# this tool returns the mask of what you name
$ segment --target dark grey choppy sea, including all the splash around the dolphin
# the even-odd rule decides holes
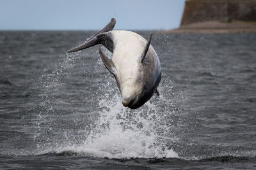
[[[256,169],[256,34],[154,34],[130,110],[97,46],[66,53],[93,33],[0,32],[0,169]]]

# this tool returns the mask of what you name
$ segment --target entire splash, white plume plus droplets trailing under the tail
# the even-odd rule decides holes
[[[63,62],[56,73],[63,69],[72,68],[73,63],[74,60]],[[106,71],[100,59],[97,61],[95,70],[97,73]],[[45,80],[45,82],[51,82],[46,83],[46,85],[50,85],[50,89],[57,91],[65,90],[52,86],[54,83],[60,83],[59,74],[53,74],[53,77],[55,78],[54,81]],[[172,134],[173,125],[170,122],[170,115],[166,115],[166,111],[163,111],[166,96],[152,97],[148,103],[138,110],[130,110],[122,106],[114,79],[109,78],[109,74],[106,74],[104,80],[107,80],[104,84],[97,85],[95,95],[97,98],[95,101],[98,101],[97,108],[90,109],[90,114],[84,113],[91,115],[91,118],[93,118],[91,121],[84,123],[86,124],[84,129],[79,129],[78,132],[77,127],[63,131],[58,130],[59,132],[56,128],[54,129],[54,125],[56,126],[57,123],[47,119],[58,117],[55,111],[58,109],[56,109],[56,106],[52,106],[52,103],[59,103],[59,101],[51,97],[52,90],[45,92],[44,101],[46,104],[44,110],[40,111],[39,119],[42,121],[38,124],[38,127],[46,122],[48,124],[46,128],[49,129],[40,129],[42,132],[38,133],[38,138],[47,137],[47,139],[38,145],[36,154],[72,152],[111,159],[178,157],[170,146],[170,141],[177,140],[175,134]],[[161,89],[159,90],[161,92]],[[168,113],[172,114],[173,111],[170,110]],[[76,114],[73,113],[73,117],[76,117]],[[85,118],[90,117],[85,116]],[[70,124],[70,122],[68,123]],[[51,135],[47,134],[49,132],[56,137],[49,139],[51,138]],[[63,134],[62,137],[58,136],[60,133]]]

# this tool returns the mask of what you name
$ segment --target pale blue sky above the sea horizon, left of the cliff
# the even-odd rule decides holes
[[[179,27],[185,0],[0,0],[0,30],[97,30]]]

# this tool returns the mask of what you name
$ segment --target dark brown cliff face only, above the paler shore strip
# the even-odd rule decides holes
[[[256,21],[256,0],[188,0],[180,26],[232,20]]]

